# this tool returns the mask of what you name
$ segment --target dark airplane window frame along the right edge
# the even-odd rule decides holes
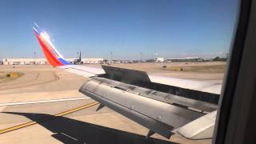
[[[222,86],[213,143],[255,142],[256,2],[246,0],[240,4],[238,26]]]

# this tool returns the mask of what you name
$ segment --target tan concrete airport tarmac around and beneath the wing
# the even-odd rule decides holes
[[[192,141],[178,134],[174,134],[170,139],[158,134],[145,138],[148,133],[145,127],[107,107],[96,111],[98,105],[89,106],[94,100],[78,92],[86,78],[64,70],[38,65],[0,66],[0,71],[23,73],[21,78],[0,83],[0,143],[211,142],[211,140]],[[164,70],[149,72],[167,74]],[[223,77],[222,73],[210,73],[211,77],[191,72],[168,74],[177,78],[196,76],[197,79],[218,82],[222,82]],[[81,106],[85,108],[76,110]],[[21,125],[27,122],[34,124],[24,127]],[[8,129],[18,125],[21,126],[17,130]],[[4,129],[7,132],[1,134]]]

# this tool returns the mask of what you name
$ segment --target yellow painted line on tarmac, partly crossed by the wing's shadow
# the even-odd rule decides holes
[[[86,104],[84,106],[77,107],[77,108],[72,109],[72,110],[67,110],[67,111],[64,111],[62,113],[55,114],[54,117],[43,118],[41,120],[38,120],[37,122],[36,121],[31,121],[31,122],[26,122],[26,123],[20,124],[18,126],[12,126],[12,127],[0,130],[0,134],[4,134],[4,133],[10,132],[10,131],[22,129],[24,127],[32,126],[32,125],[39,124],[39,123],[42,123],[42,122],[50,121],[50,120],[53,120],[53,119],[56,119],[56,118],[61,118],[63,115],[71,114],[71,113],[74,113],[78,110],[83,110],[83,109],[86,109],[86,108],[89,108],[89,107],[95,106],[95,105],[98,105],[98,102],[92,102],[92,103]]]

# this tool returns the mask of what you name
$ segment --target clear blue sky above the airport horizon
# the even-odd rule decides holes
[[[65,58],[223,56],[237,12],[236,0],[2,0],[0,58],[43,58],[34,22]]]

